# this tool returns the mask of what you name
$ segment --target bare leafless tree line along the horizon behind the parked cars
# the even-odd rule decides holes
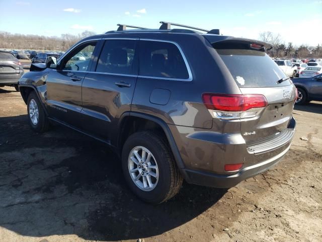
[[[77,35],[62,34],[60,37],[48,37],[33,34],[24,35],[0,32],[0,48],[66,51],[77,41],[95,34],[95,32],[84,31]],[[268,54],[272,57],[322,57],[322,47],[319,44],[317,46],[308,46],[305,44],[295,46],[292,42],[285,44],[280,34],[274,34],[269,31],[260,33],[259,39],[273,45],[273,49],[268,51]]]

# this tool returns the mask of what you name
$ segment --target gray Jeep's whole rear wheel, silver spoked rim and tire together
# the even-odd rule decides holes
[[[122,169],[132,192],[151,204],[174,197],[183,182],[168,142],[150,131],[134,133],[126,140]]]

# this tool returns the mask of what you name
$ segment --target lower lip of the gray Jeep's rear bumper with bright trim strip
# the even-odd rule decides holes
[[[290,145],[277,156],[274,156],[268,160],[259,162],[257,164],[245,167],[244,169],[238,171],[238,173],[232,175],[218,175],[204,171],[196,171],[189,169],[183,169],[182,171],[185,174],[186,181],[188,183],[215,188],[231,188],[240,183],[240,181],[243,181],[257,174],[263,173],[264,171],[277,164],[284,157],[289,148]]]

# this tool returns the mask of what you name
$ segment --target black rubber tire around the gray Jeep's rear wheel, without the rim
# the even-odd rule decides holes
[[[141,190],[132,180],[129,172],[129,155],[134,147],[142,146],[148,149],[158,166],[158,181],[151,191]],[[122,169],[125,180],[132,192],[141,200],[151,203],[163,203],[174,197],[180,190],[183,177],[180,173],[168,142],[162,136],[143,131],[132,134],[126,140],[122,150]]]

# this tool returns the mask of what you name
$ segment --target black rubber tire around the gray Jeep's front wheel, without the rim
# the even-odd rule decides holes
[[[33,124],[31,116],[30,116],[30,108],[29,107],[30,107],[30,103],[32,101],[36,102],[37,108],[38,108],[38,122],[37,122],[37,124]],[[46,113],[43,109],[42,104],[40,103],[40,101],[37,97],[37,94],[34,91],[32,91],[28,96],[27,111],[28,111],[29,125],[35,132],[43,133],[49,129],[49,120],[46,116]]]

